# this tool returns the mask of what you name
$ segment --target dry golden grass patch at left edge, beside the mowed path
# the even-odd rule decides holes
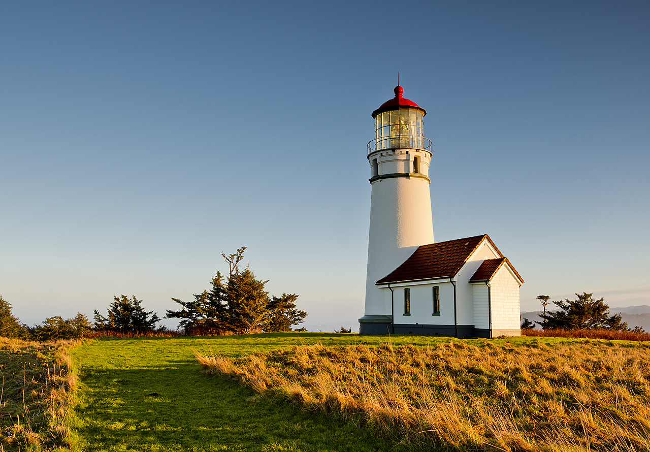
[[[78,342],[0,337],[0,451],[69,445],[66,420],[77,388],[69,351]]]

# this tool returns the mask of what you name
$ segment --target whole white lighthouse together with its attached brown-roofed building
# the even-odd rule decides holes
[[[370,236],[361,334],[519,336],[523,279],[487,234],[434,243],[426,111],[402,97],[372,113]]]

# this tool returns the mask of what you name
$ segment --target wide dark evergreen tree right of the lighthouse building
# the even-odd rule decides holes
[[[593,299],[593,293],[576,293],[575,300],[554,301],[558,311],[542,314],[543,321],[537,322],[544,329],[590,330],[604,328],[610,330],[627,330],[627,323],[621,315],[609,315],[609,306],[604,298]]]

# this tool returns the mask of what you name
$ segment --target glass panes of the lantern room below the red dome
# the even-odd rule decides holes
[[[375,150],[422,149],[424,115],[416,109],[399,109],[377,114],[374,120]]]

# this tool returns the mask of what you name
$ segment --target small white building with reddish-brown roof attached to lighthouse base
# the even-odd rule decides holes
[[[487,234],[419,246],[376,282],[383,312],[359,319],[365,334],[520,336],[523,279]]]

